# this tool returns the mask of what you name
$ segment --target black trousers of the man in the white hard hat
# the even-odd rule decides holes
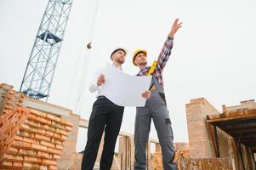
[[[88,125],[88,141],[82,156],[82,170],[94,168],[104,130],[105,139],[100,158],[100,170],[111,169],[117,136],[122,124],[123,110],[124,107],[115,105],[102,96],[94,102]]]

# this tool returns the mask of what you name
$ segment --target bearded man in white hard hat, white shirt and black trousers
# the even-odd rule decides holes
[[[126,59],[126,50],[117,48],[111,54],[113,66],[122,70],[122,64]],[[105,77],[100,74],[97,81],[92,82],[89,91],[98,91],[97,100],[94,102],[93,111],[89,118],[88,141],[82,157],[82,170],[92,170],[100,146],[100,140],[105,131],[104,146],[100,158],[100,170],[111,169],[117,136],[122,124],[124,107],[116,105],[100,94],[100,86],[105,83]],[[122,95],[122,94],[120,94]],[[150,91],[145,91],[142,96],[149,99]]]

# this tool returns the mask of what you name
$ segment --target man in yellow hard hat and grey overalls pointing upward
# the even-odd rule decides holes
[[[133,63],[139,67],[137,76],[152,75],[151,97],[146,100],[145,107],[136,108],[136,120],[134,127],[135,164],[134,170],[146,168],[146,144],[151,129],[151,118],[156,127],[156,133],[162,149],[162,163],[164,170],[177,169],[174,163],[174,134],[168,113],[167,103],[163,91],[162,71],[166,65],[174,44],[174,34],[179,30],[182,23],[179,19],[174,21],[167,40],[164,42],[159,57],[153,65],[147,66],[147,51],[137,49],[133,54]]]

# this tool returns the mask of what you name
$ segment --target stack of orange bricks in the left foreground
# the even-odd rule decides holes
[[[70,122],[17,107],[1,116],[0,123],[0,144],[3,146],[0,168],[57,169],[57,161],[71,130]]]

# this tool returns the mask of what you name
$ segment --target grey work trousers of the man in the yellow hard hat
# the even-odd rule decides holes
[[[151,131],[151,118],[156,127],[157,137],[162,149],[162,164],[164,170],[176,170],[177,164],[173,162],[174,134],[168,109],[162,97],[151,92],[151,98],[146,100],[145,107],[136,108],[135,120],[135,164],[134,170],[146,168],[146,144]]]

